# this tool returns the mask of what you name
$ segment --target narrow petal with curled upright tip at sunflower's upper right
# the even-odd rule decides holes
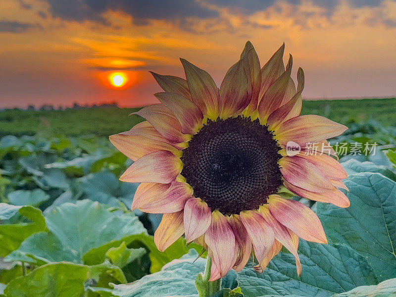
[[[289,102],[282,105],[281,107],[279,107],[269,115],[267,120],[267,125],[269,126],[269,130],[273,130],[273,131],[276,130],[276,128],[280,124],[291,118],[299,116],[299,114],[301,113],[301,107],[302,107],[301,93],[302,90],[304,89],[304,72],[302,71],[301,68],[298,68],[297,81],[298,81],[298,86],[297,86],[296,95],[294,95]]]

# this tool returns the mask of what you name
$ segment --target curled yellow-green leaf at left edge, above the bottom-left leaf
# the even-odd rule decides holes
[[[3,224],[0,225],[0,256],[4,257],[13,250],[16,250],[21,243],[30,235],[43,231],[46,229],[46,221],[40,209],[33,206],[14,206],[0,203],[0,213],[4,217],[11,217],[16,214],[16,209],[19,214],[28,218],[32,223],[17,223],[17,224]],[[7,214],[1,211],[6,209]],[[11,210],[12,209],[12,210]]]

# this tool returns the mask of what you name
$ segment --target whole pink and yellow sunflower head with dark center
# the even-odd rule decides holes
[[[261,68],[247,42],[220,89],[185,59],[186,80],[152,73],[165,91],[155,94],[161,103],[135,112],[146,121],[110,136],[134,161],[120,180],[141,183],[132,209],[164,214],[158,249],[185,234],[207,249],[211,281],[241,270],[252,252],[263,271],[282,246],[301,272],[299,238],[327,240],[316,214],[292,196],[349,206],[339,190],[347,190],[347,173],[326,141],[347,127],[299,115],[304,74],[299,68],[296,89],[284,46]]]

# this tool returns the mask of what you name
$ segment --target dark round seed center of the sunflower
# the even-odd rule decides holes
[[[194,196],[224,214],[257,209],[282,184],[281,149],[258,120],[208,120],[183,150],[183,171]]]

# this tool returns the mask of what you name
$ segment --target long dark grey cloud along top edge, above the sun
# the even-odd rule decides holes
[[[184,19],[196,16],[209,18],[217,12],[203,7],[197,1],[186,0],[47,0],[53,16],[66,20],[93,20],[106,23],[102,13],[107,10],[124,11],[136,23],[149,19]]]

